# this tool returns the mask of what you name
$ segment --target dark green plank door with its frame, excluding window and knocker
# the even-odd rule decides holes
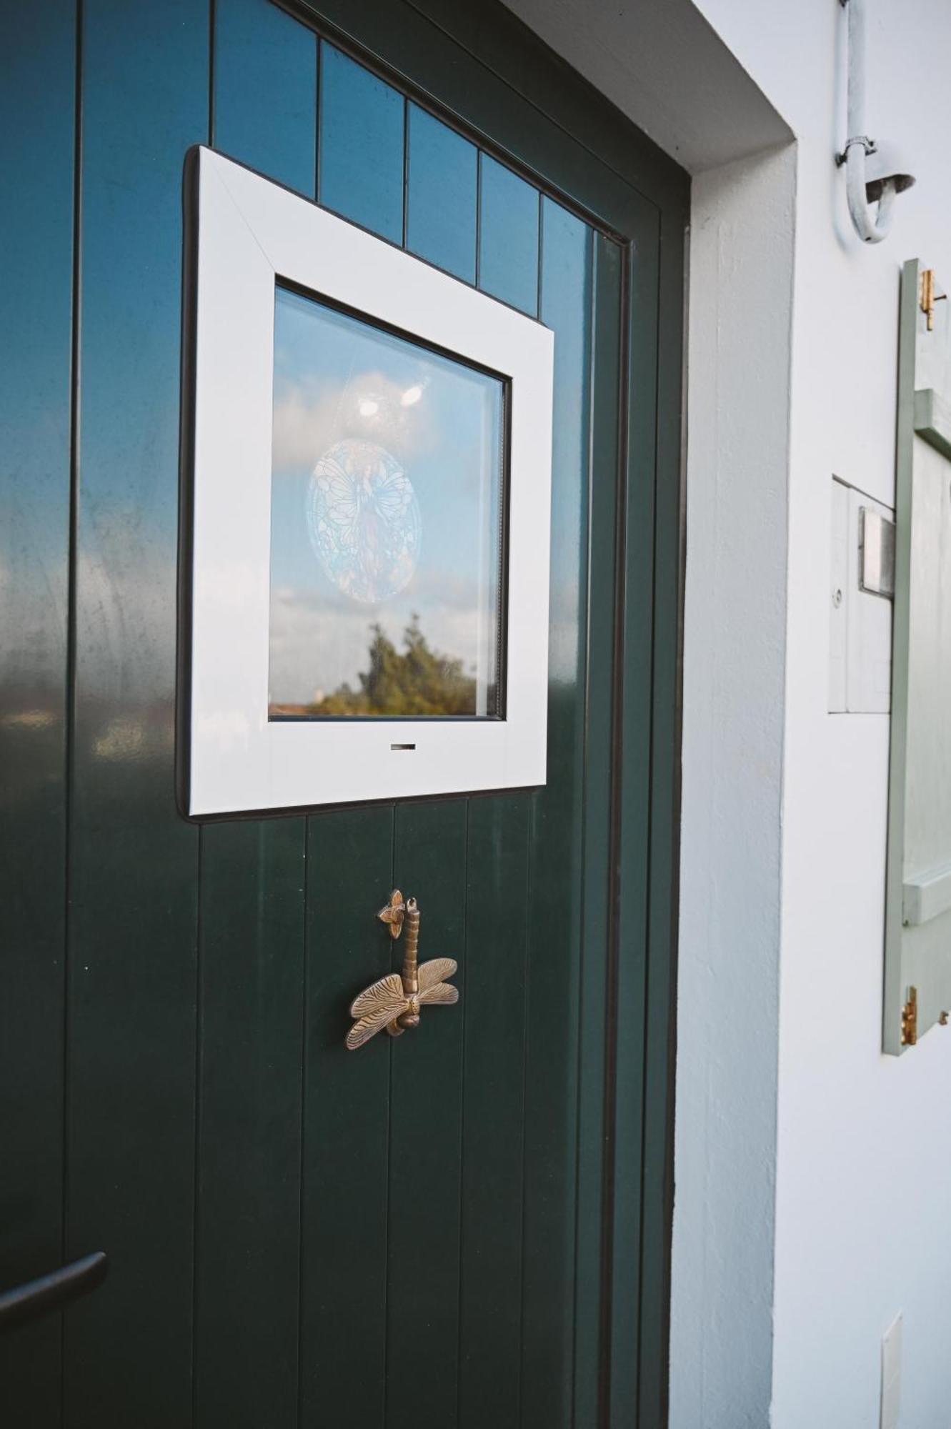
[[[0,1423],[660,1426],[684,176],[494,4],[0,23],[0,1289],[110,1260]],[[554,330],[544,789],[177,812],[194,143]],[[461,1000],[347,1053],[394,885]]]

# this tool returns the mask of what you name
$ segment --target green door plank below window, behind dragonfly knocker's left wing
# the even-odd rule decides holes
[[[390,972],[393,809],[308,820],[300,1423],[383,1426],[391,1039],[346,1052],[347,1009]],[[411,1212],[407,1212],[411,1215]]]

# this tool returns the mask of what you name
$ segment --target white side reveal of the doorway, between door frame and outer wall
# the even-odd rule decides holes
[[[693,186],[671,1429],[771,1400],[795,184]]]

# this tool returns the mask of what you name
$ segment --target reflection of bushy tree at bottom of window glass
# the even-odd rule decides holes
[[[370,669],[360,674],[360,689],[341,684],[308,714],[474,714],[476,680],[463,662],[431,650],[413,616],[403,632],[403,652],[383,627],[370,626]]]

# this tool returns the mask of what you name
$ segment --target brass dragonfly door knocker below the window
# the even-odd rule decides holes
[[[458,1002],[458,987],[446,982],[457,969],[451,957],[433,957],[418,966],[420,909],[414,897],[403,899],[398,889],[390,895],[390,902],[381,907],[377,917],[390,925],[391,937],[398,937],[406,923],[406,950],[403,972],[387,973],[354,997],[350,1016],[356,1017],[347,1033],[347,1047],[354,1052],[384,1027],[391,1037],[401,1036],[407,1027],[418,1027],[420,1009],[438,1007]]]

